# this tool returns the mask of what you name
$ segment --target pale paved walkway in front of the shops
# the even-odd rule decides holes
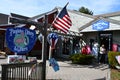
[[[107,64],[75,65],[70,61],[58,61],[60,70],[47,66],[47,79],[57,80],[110,80]]]

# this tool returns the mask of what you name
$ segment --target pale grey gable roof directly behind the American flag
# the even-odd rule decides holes
[[[49,11],[49,12],[46,12],[46,13],[43,13],[43,14],[40,14],[40,15],[37,15],[37,16],[34,16],[32,17],[30,20],[34,20],[34,21],[37,21],[38,19],[42,19],[45,17],[45,15],[51,15],[55,12],[56,15],[60,13],[60,11],[62,10],[61,7],[55,7],[53,10]],[[70,32],[69,34],[75,34],[75,33],[79,33],[79,27],[81,27],[82,25],[94,20],[96,17],[95,16],[92,16],[92,15],[88,15],[88,14],[84,14],[84,13],[80,13],[79,11],[75,11],[75,10],[68,10],[68,14],[72,20],[72,26],[70,28]],[[55,16],[53,17],[52,20],[54,20]],[[84,19],[83,19],[84,18]],[[49,24],[51,25],[51,24]]]

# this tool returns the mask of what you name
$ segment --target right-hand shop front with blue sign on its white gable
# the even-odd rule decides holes
[[[119,51],[120,13],[109,13],[96,17],[96,20],[84,25],[84,29],[80,28],[87,45],[92,47],[92,43],[97,41],[99,46],[104,44],[107,51],[113,51],[113,49]]]

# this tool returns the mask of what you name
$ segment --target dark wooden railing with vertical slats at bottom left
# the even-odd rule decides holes
[[[2,64],[1,80],[41,80],[42,63],[37,64],[29,75],[34,64],[36,63]]]

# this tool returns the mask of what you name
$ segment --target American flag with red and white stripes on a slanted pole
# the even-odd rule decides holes
[[[67,33],[70,26],[72,26],[72,21],[67,12],[66,6],[61,10],[59,15],[55,18],[55,20],[52,23],[54,28],[56,28],[64,33]]]

